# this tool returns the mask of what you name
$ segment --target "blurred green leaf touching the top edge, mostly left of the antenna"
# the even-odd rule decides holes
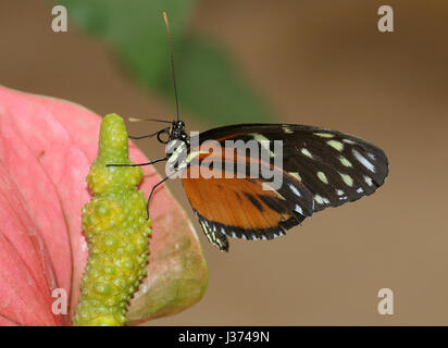
[[[162,12],[170,13],[175,23],[172,34],[173,44],[177,45],[195,1],[62,0],[60,3],[79,27],[102,37],[141,83],[154,88],[170,76]]]

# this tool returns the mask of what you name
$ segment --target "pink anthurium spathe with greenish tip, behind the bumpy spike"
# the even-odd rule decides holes
[[[74,103],[0,87],[0,325],[72,323],[88,256],[80,211],[90,199],[86,176],[100,122]],[[132,142],[129,158],[148,161]],[[160,176],[142,169],[148,196]],[[130,325],[182,311],[207,288],[198,237],[167,189],[154,196],[150,214],[148,276],[130,301]]]

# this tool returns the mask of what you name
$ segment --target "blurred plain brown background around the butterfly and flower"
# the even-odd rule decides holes
[[[393,34],[377,30],[381,4],[394,8]],[[51,20],[47,1],[1,1],[1,85],[99,114],[174,113],[103,44],[71,22],[55,34]],[[388,154],[390,175],[375,195],[271,243],[232,240],[225,254],[201,236],[204,298],[150,325],[448,324],[447,23],[439,0],[200,2],[194,29],[224,42],[282,121],[370,140]],[[155,140],[139,146],[149,158],[163,152]],[[194,219],[181,183],[170,185]],[[394,315],[377,313],[384,287],[394,290]]]

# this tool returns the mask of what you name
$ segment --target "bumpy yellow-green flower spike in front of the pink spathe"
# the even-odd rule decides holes
[[[87,183],[95,195],[83,208],[83,229],[89,258],[83,276],[75,325],[124,325],[127,304],[147,274],[151,221],[146,199],[137,189],[144,176],[130,164],[124,121],[116,114],[101,123],[98,157]]]

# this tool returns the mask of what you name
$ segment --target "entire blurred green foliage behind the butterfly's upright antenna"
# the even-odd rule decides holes
[[[174,100],[166,32],[170,17],[181,111],[209,122],[265,122],[266,105],[216,45],[188,29],[195,0],[61,0],[83,29],[100,36],[145,87]]]

